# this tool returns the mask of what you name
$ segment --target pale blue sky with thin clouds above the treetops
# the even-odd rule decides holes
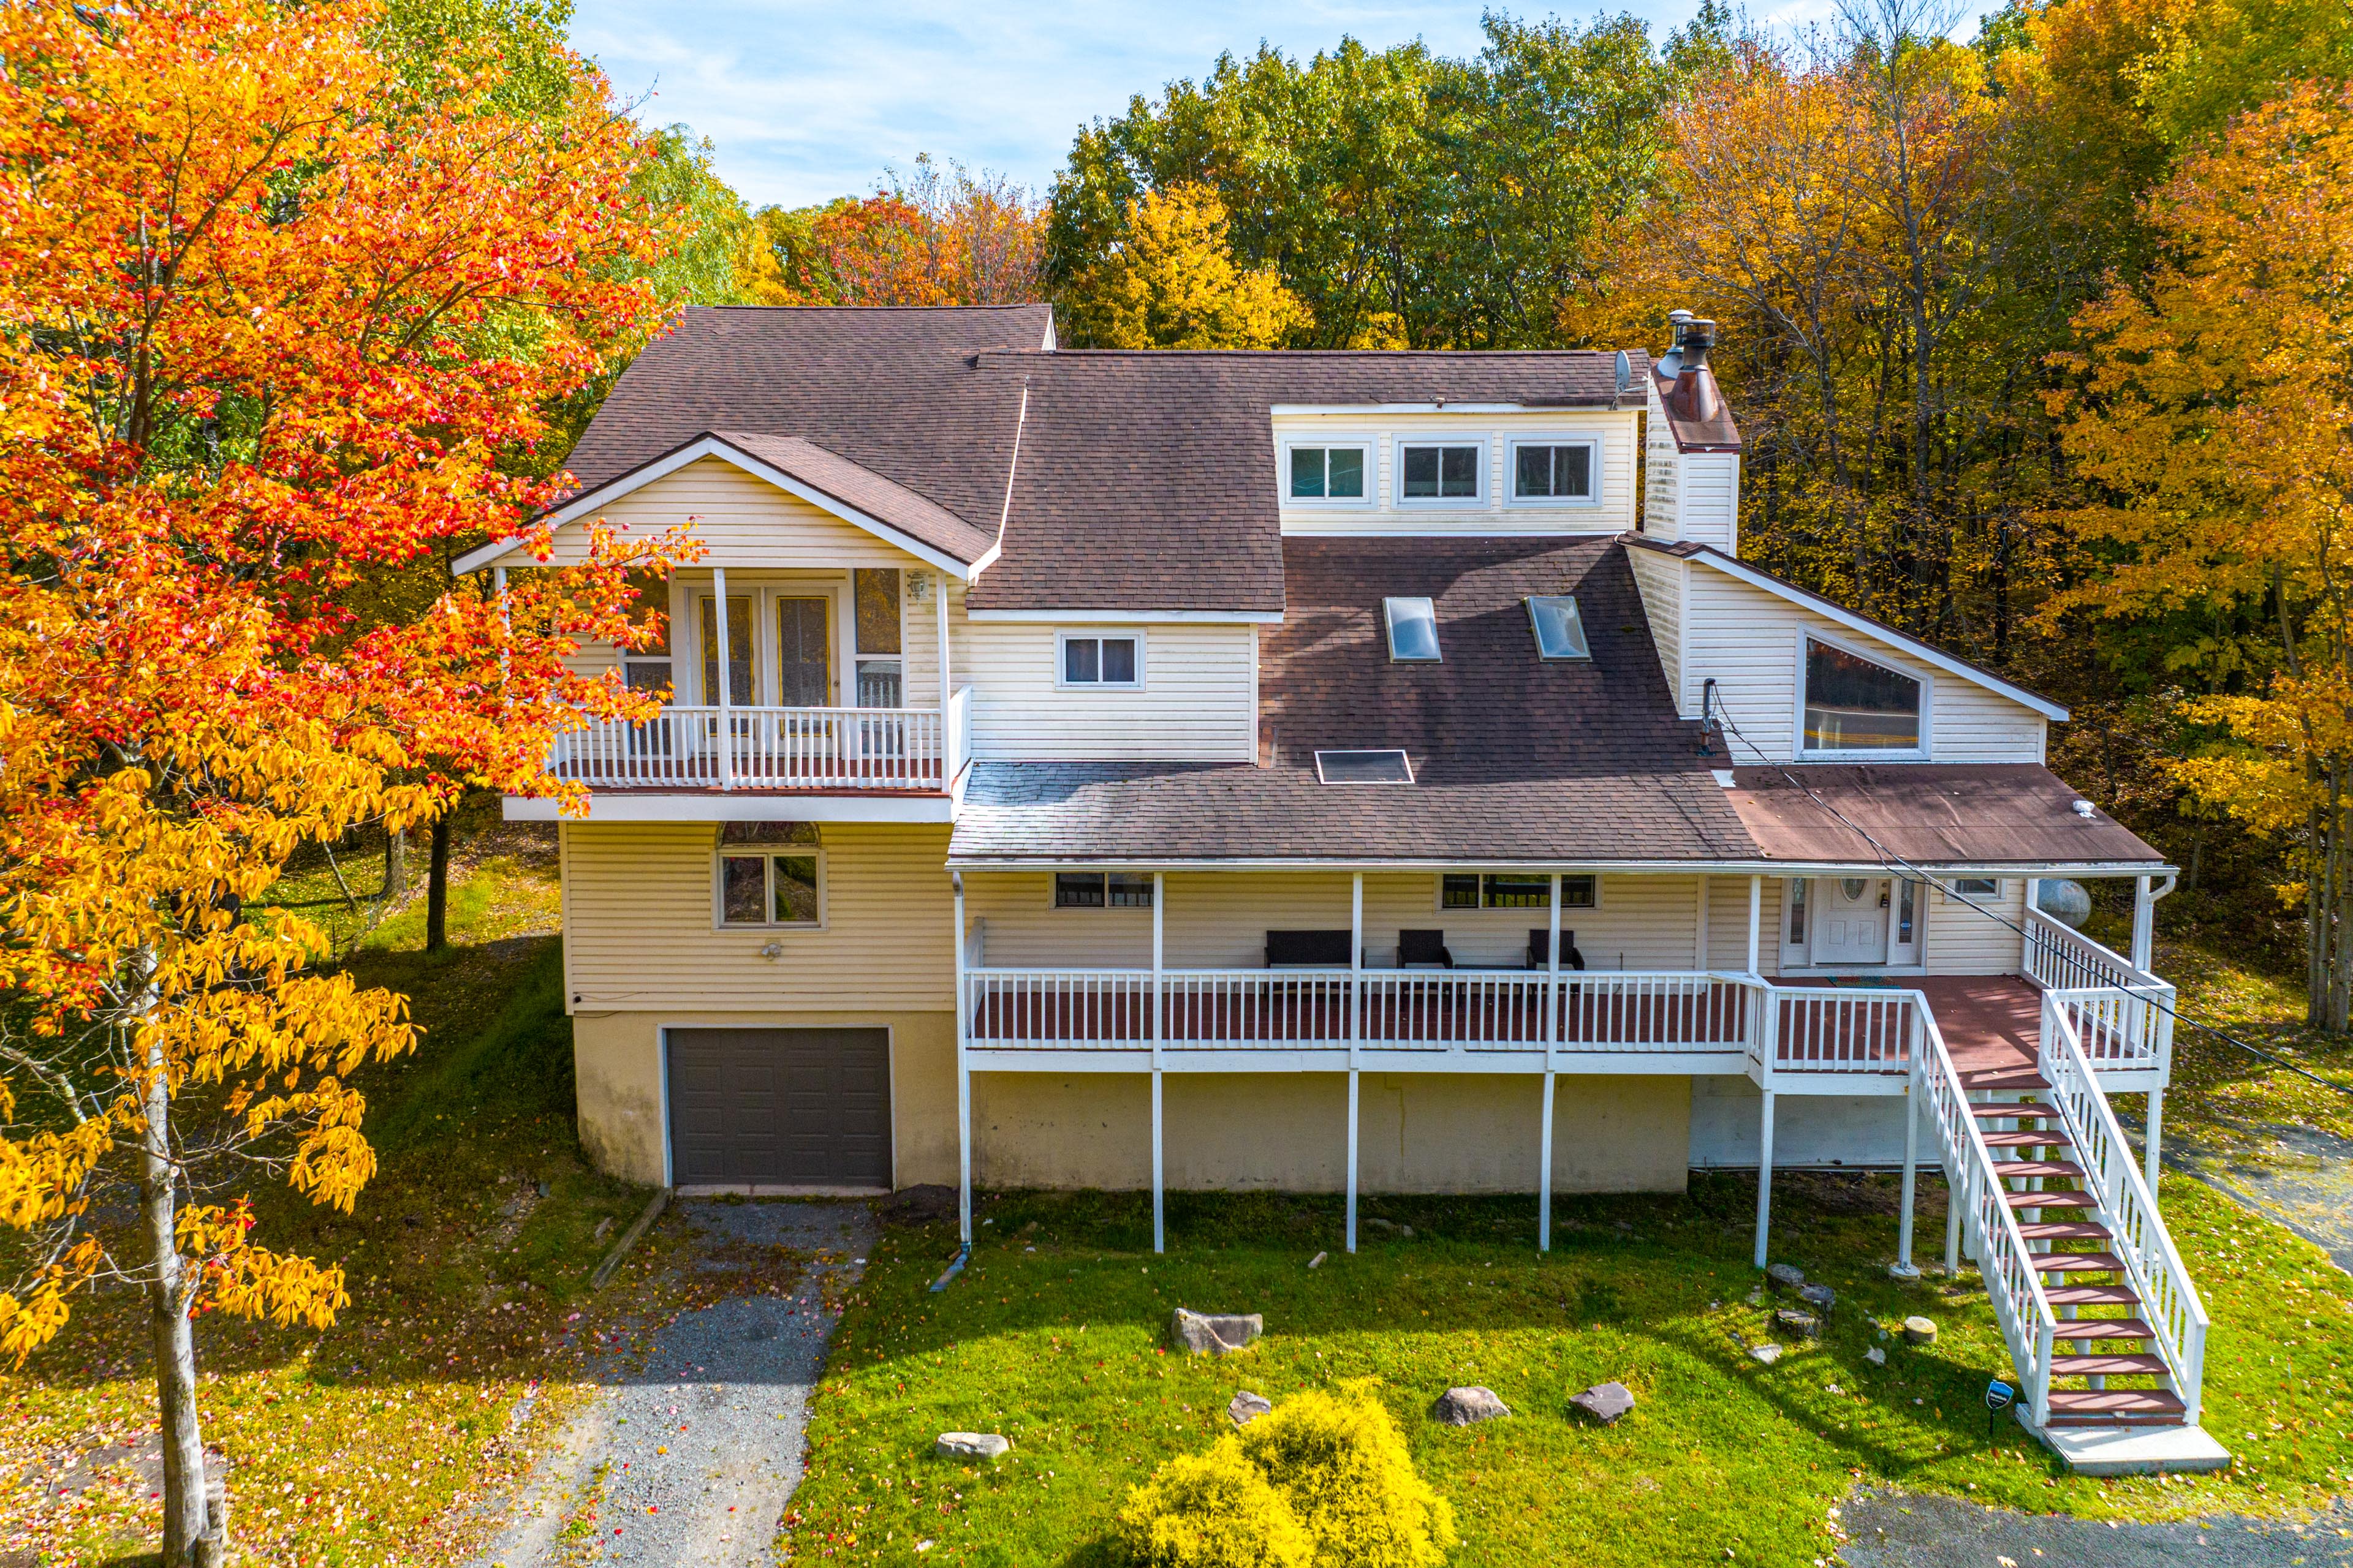
[[[1546,14],[1546,7],[1504,7]],[[1562,16],[1593,9],[1560,7]],[[1633,0],[1654,35],[1697,0]],[[1762,21],[1807,21],[1826,0],[1767,0]],[[638,110],[711,139],[718,169],[760,207],[861,195],[915,153],[998,169],[1045,188],[1071,136],[1129,94],[1198,78],[1221,49],[1259,40],[1313,54],[1344,33],[1372,47],[1421,38],[1475,54],[1480,7],[1191,0],[1184,5],[1009,5],[1005,0],[576,0],[572,40]]]

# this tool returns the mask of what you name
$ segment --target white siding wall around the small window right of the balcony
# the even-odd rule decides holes
[[[1056,686],[1056,630],[1139,635],[1144,689]],[[1252,762],[1257,649],[1257,625],[967,621],[951,658],[986,762]]]

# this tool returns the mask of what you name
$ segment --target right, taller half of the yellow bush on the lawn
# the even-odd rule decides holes
[[[1315,1537],[1315,1568],[1435,1568],[1454,1544],[1454,1507],[1369,1394],[1294,1394],[1240,1436]]]

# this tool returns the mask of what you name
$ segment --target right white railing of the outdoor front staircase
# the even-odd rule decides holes
[[[2165,1363],[2174,1368],[2184,1422],[2195,1427],[2205,1385],[2205,1305],[2075,1032],[2071,1001],[2082,997],[2085,992],[2042,992],[2042,1077],[2052,1086],[2052,1105],[2059,1107],[2068,1143],[2075,1145],[2075,1164],[2099,1204],[2099,1220],[2111,1232],[2108,1246],[2141,1298],[2141,1316],[2158,1335]]]

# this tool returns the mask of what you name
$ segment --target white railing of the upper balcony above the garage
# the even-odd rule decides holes
[[[936,708],[664,708],[562,736],[558,778],[605,790],[944,790],[969,755],[969,698]]]

